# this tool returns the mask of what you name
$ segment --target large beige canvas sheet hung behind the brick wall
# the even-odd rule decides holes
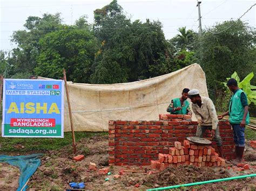
[[[184,88],[199,89],[200,95],[208,97],[205,73],[197,63],[142,81],[68,82],[68,88],[75,131],[108,131],[109,120],[158,120],[158,115],[167,113],[172,98],[180,97]],[[64,131],[67,132],[71,127],[66,95],[64,97]]]

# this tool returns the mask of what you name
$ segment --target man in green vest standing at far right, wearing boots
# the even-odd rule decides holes
[[[227,82],[227,87],[233,92],[230,100],[230,109],[218,116],[222,119],[226,115],[230,115],[230,124],[233,128],[233,137],[235,142],[235,163],[242,161],[242,154],[245,149],[245,125],[250,123],[248,112],[248,101],[244,91],[239,89],[237,81],[230,79]]]

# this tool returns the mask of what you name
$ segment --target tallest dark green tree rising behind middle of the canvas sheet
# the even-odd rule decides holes
[[[93,27],[102,45],[96,53],[92,83],[137,81],[163,74],[169,51],[160,22],[131,23],[117,1],[112,1],[95,10]]]

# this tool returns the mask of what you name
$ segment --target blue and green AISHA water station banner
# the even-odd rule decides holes
[[[64,81],[3,81],[2,137],[64,137]]]

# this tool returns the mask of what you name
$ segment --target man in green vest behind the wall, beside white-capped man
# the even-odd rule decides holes
[[[190,103],[187,101],[188,91],[190,91],[190,89],[183,89],[181,97],[173,99],[166,111],[177,115],[192,115]]]

